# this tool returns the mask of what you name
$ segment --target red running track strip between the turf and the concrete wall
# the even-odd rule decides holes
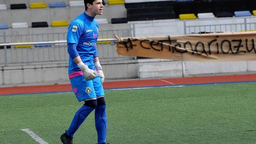
[[[256,74],[108,81],[103,83],[103,87],[104,89],[110,89],[110,88],[131,88],[131,87],[165,86],[165,85],[168,86],[168,85],[220,83],[220,82],[236,82],[236,81],[256,81]],[[70,84],[18,86],[18,87],[0,88],[0,95],[61,92],[61,91],[71,91],[71,90],[72,88]]]

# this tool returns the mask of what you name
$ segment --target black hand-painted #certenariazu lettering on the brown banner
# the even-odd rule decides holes
[[[150,40],[150,39],[130,39],[127,38],[119,42],[122,44],[124,48],[129,51],[129,49],[133,49],[137,45],[142,47],[143,49],[152,49],[154,51],[166,51],[164,47],[168,47],[168,51],[172,53],[187,53],[188,51],[192,54],[239,54],[239,53],[250,53],[254,52],[256,54],[255,42],[254,39],[222,39],[219,40],[220,37],[216,36],[213,40],[207,41],[195,41],[188,40],[181,42],[177,40],[172,40],[170,36],[164,40]],[[135,41],[140,42],[135,42]]]

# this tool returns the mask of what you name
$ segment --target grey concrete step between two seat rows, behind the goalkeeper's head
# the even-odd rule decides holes
[[[67,20],[70,24],[74,18],[84,12],[84,7],[65,7],[65,8],[39,8],[39,9],[17,9],[1,10],[1,22],[7,23],[10,27],[13,22],[27,22],[31,26],[32,22],[46,21],[51,25],[54,20]],[[118,13],[116,13],[118,12]],[[104,6],[103,15],[97,15],[95,18],[106,18],[111,22],[111,18],[126,17],[124,5]]]

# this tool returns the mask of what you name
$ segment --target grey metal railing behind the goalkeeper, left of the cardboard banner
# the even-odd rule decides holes
[[[97,50],[104,59],[134,59],[120,56],[116,52],[113,34],[130,37],[131,29],[99,31]],[[67,61],[66,33],[6,35],[0,33],[0,64]],[[18,42],[18,43],[17,43]],[[3,43],[3,44],[1,44]],[[46,45],[47,44],[47,45]]]

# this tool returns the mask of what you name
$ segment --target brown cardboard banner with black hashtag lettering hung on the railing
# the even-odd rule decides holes
[[[176,61],[255,61],[256,32],[117,38],[117,53]]]

